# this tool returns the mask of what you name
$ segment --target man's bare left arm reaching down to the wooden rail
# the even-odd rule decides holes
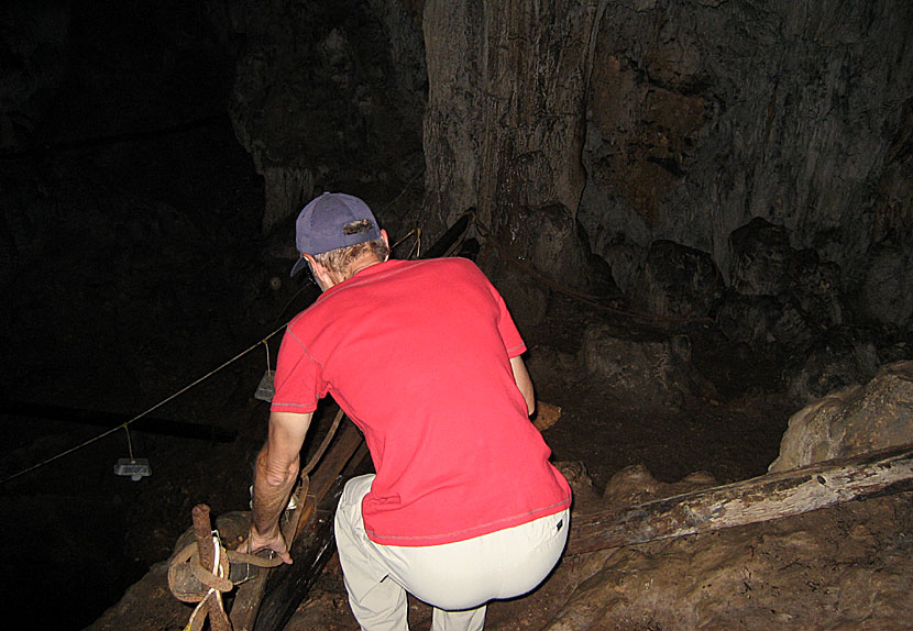
[[[279,516],[298,477],[301,444],[308,433],[312,412],[295,414],[272,412],[270,434],[254,467],[253,524],[249,551],[274,550],[285,563],[292,563],[288,546],[279,530]]]

